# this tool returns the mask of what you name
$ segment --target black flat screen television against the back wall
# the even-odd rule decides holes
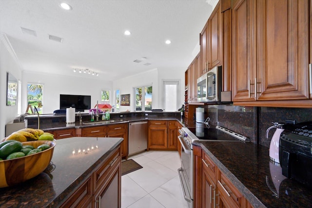
[[[91,109],[90,95],[59,95],[59,109],[69,107],[75,108],[76,111]]]

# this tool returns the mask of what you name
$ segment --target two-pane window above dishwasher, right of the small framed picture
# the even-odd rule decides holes
[[[152,110],[152,86],[142,86],[135,88],[136,110]]]

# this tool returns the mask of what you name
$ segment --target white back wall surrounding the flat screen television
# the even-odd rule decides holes
[[[22,112],[27,108],[27,83],[43,84],[43,114],[51,114],[59,109],[59,94],[91,95],[91,107],[101,102],[101,90],[112,92],[112,82],[98,79],[60,76],[23,72],[22,80]]]

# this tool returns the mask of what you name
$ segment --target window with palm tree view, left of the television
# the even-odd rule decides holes
[[[30,105],[32,109],[35,107],[39,114],[43,113],[42,109],[42,98],[43,98],[43,84],[27,84],[27,104]],[[28,109],[28,113],[31,112],[31,108]]]

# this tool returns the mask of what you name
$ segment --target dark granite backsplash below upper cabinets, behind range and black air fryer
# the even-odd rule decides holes
[[[199,106],[203,107],[203,106]],[[274,129],[266,139],[266,130],[272,122],[295,120],[296,123],[312,121],[312,108],[250,107],[225,105],[204,105],[205,117],[212,125],[220,125],[248,137],[251,142],[269,147]]]

